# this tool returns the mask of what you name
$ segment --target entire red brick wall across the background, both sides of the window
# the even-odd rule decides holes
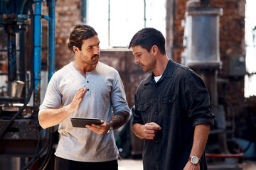
[[[188,0],[176,0],[175,16],[174,16],[174,51],[173,60],[181,62],[181,53],[183,52],[183,20],[185,19],[186,2]],[[228,77],[228,57],[230,55],[245,54],[245,0],[212,0],[212,6],[223,8],[223,16],[220,16],[220,60],[223,62],[223,68],[219,70],[218,77],[228,79],[228,84],[225,86],[228,98],[238,106],[238,97],[243,98],[244,79],[236,77]],[[72,4],[72,5],[71,5]],[[57,1],[56,11],[56,64],[55,68],[60,69],[65,64],[73,60],[73,54],[68,50],[67,40],[70,30],[77,23],[81,23],[81,11],[79,0],[59,0]],[[45,8],[44,8],[44,11]],[[47,29],[47,28],[45,28]],[[129,68],[129,63],[132,62],[127,57],[131,55],[129,52],[101,52],[100,60],[110,64],[119,70],[124,86],[127,92],[127,98],[133,98],[134,89],[137,84],[129,84],[135,82],[134,77],[131,78],[128,73],[137,72],[137,68]],[[44,57],[43,57],[44,58]],[[126,71],[125,71],[126,70]],[[127,71],[129,70],[129,72]],[[143,75],[143,73],[141,72]],[[139,75],[139,76],[138,76]],[[144,76],[137,74],[140,81]],[[131,85],[131,86],[130,86]],[[132,90],[131,90],[132,89]],[[235,95],[234,95],[235,94]],[[129,105],[132,105],[132,99],[129,99]]]

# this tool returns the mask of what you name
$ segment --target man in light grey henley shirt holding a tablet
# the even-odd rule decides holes
[[[53,74],[38,115],[42,128],[59,125],[55,169],[117,170],[114,132],[129,118],[124,86],[116,69],[99,62],[96,31],[77,25],[68,49],[75,60]],[[74,128],[71,117],[100,118],[101,125]]]

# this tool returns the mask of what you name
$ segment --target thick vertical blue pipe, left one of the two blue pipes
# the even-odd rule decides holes
[[[41,91],[41,35],[42,35],[42,2],[43,0],[35,1],[35,25],[34,25],[34,75],[35,88],[33,94],[33,105],[40,106],[40,91]]]

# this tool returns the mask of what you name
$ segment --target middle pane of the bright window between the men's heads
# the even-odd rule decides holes
[[[110,46],[127,47],[144,28],[144,1],[110,0]]]

